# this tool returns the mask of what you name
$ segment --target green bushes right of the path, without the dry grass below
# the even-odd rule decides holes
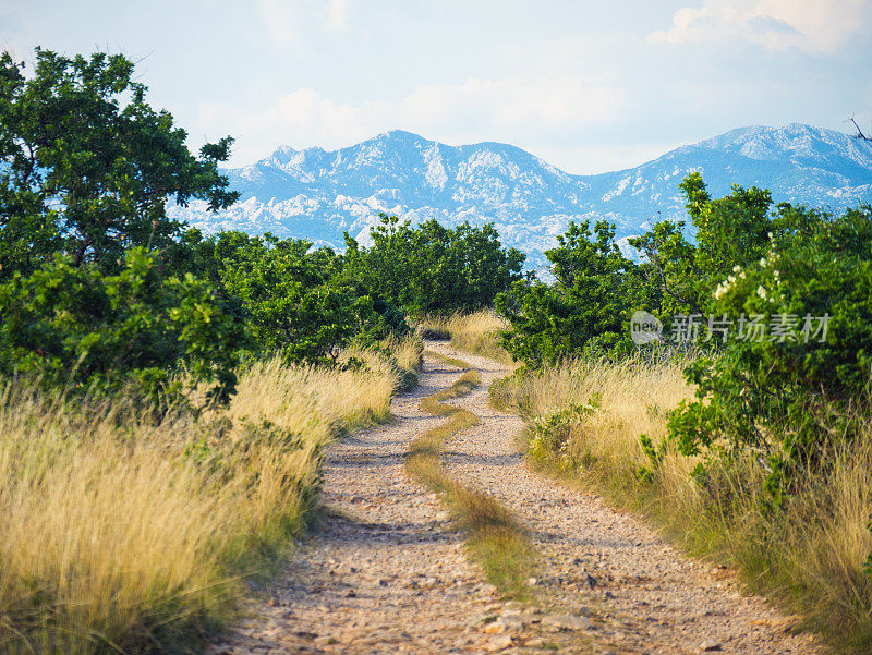
[[[631,241],[642,254],[633,263],[614,227],[570,225],[546,253],[554,282],[518,282],[498,298],[511,323],[504,344],[533,366],[616,359],[632,352],[637,308],[666,324],[679,315],[730,322],[726,341],[693,344],[686,375],[697,398],[670,413],[669,438],[688,456],[764,458],[778,501],[820,465],[825,444],[857,434],[870,409],[872,210],[833,217],[738,185],[715,199],[699,173],[681,190],[695,240],[685,223],[659,222]],[[750,337],[754,317],[772,331]],[[668,355],[673,345],[651,348]]]

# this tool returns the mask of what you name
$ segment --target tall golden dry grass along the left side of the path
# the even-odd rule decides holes
[[[159,425],[0,389],[0,653],[191,652],[303,526],[327,441],[387,416],[396,366],[360,356],[254,365],[226,410]]]

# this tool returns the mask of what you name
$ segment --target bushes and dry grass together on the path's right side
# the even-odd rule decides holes
[[[681,189],[690,226],[633,240],[641,263],[611,226],[571,226],[547,253],[554,283],[497,296],[521,366],[493,401],[528,420],[536,465],[646,512],[868,652],[872,210],[739,186],[714,199],[699,173]],[[647,317],[633,342],[638,310],[662,333]]]

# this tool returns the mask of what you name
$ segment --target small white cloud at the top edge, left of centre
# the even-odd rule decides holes
[[[258,0],[257,14],[270,40],[296,46],[312,29],[342,32],[348,28],[350,0]]]

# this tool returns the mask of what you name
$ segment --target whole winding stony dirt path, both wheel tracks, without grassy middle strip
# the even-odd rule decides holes
[[[808,636],[787,634],[786,619],[763,601],[741,597],[729,579],[678,555],[641,522],[528,471],[512,446],[520,420],[487,404],[487,387],[505,368],[446,344],[428,348],[482,373],[479,390],[450,401],[482,424],[453,439],[445,461],[530,527],[546,607],[500,603],[436,496],[403,471],[409,442],[445,421],[417,403],[461,374],[427,360],[417,389],[393,400],[395,421],[334,446],[319,530],[267,602],[253,604],[251,618],[209,655],[821,652]],[[558,632],[547,626],[555,611],[588,616],[592,629]],[[508,631],[494,634],[483,619],[499,614]]]

